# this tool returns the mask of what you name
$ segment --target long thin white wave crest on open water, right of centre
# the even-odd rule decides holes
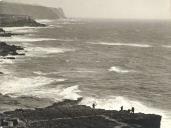
[[[90,44],[100,44],[100,45],[110,45],[110,46],[129,46],[129,47],[142,47],[142,48],[148,48],[152,47],[148,44],[135,44],[135,43],[109,43],[109,42],[88,42]]]

